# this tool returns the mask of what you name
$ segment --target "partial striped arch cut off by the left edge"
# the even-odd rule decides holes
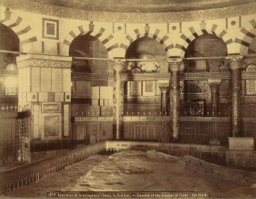
[[[6,8],[6,11],[1,12],[1,18],[4,18],[4,20],[1,20],[0,23],[11,28],[18,36],[20,40],[20,51],[26,53],[31,52],[33,48],[32,43],[37,42],[38,39],[33,34],[33,31],[31,31],[32,28],[30,25],[21,16],[15,16],[8,8]]]

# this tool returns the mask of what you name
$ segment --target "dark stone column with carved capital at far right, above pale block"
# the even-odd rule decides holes
[[[242,71],[241,60],[243,56],[228,57],[230,62],[230,83],[232,91],[230,136],[240,137],[243,132],[242,116]]]

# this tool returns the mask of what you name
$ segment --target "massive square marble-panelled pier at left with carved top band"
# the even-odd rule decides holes
[[[27,54],[17,57],[18,106],[30,116],[25,160],[46,150],[70,147],[71,57]],[[54,148],[48,148],[48,143]],[[39,148],[39,150],[34,150]],[[33,155],[35,152],[35,155]],[[42,154],[40,154],[42,152]]]

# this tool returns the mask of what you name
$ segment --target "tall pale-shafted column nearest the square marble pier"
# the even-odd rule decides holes
[[[113,140],[123,139],[123,67],[125,61],[114,59],[113,66]]]

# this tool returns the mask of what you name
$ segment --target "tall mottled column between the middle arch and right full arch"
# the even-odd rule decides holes
[[[169,71],[170,71],[170,115],[171,115],[171,133],[174,142],[179,140],[179,71],[183,66],[182,59],[168,59]]]

